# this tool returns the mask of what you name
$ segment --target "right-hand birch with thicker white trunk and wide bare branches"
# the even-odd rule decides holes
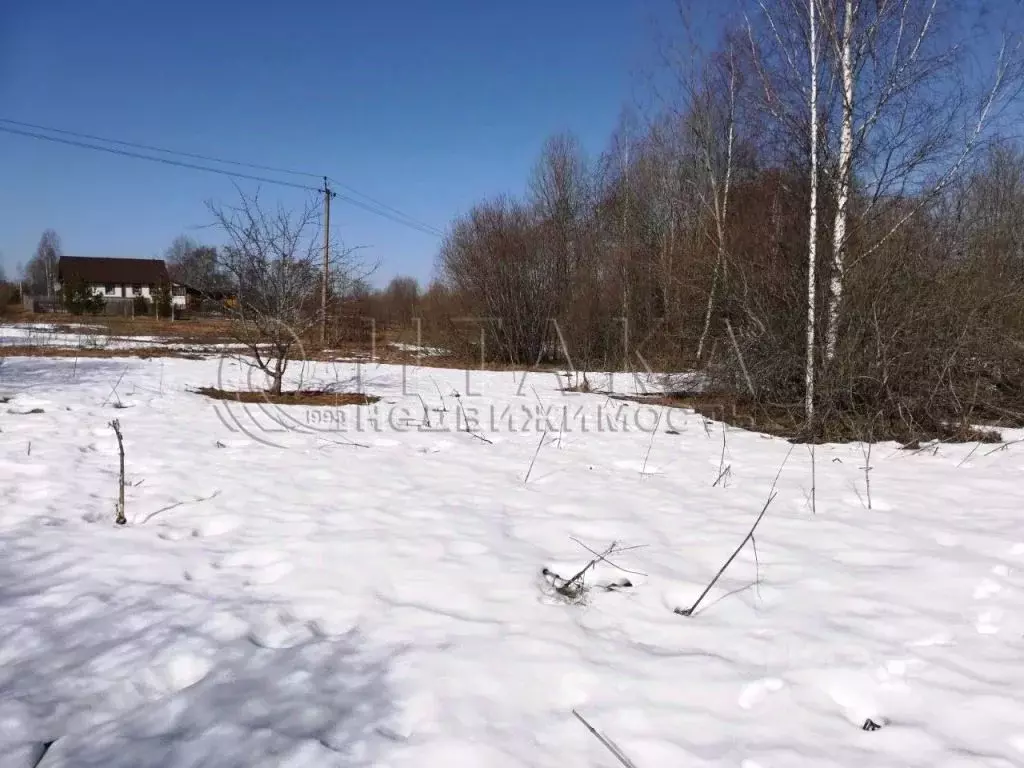
[[[938,0],[815,0],[826,61],[838,83],[829,164],[835,217],[825,360],[837,351],[847,271],[879,248],[964,172],[996,137],[1020,94],[1021,35],[1007,18],[972,40],[984,8],[943,9]],[[991,51],[991,36],[1001,43]],[[981,62],[972,77],[970,61]],[[855,188],[857,179],[861,189]],[[893,200],[916,199],[888,226]],[[860,241],[859,243],[857,241]],[[856,250],[856,252],[854,252]]]

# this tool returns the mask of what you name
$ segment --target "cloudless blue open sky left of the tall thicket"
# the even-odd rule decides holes
[[[603,148],[650,61],[657,5],[0,0],[0,117],[326,173],[443,228],[521,191],[549,134]],[[8,274],[46,227],[69,255],[161,256],[180,233],[216,243],[196,228],[205,201],[234,195],[221,176],[5,133],[0,175]],[[371,247],[375,282],[430,275],[436,238],[344,202],[332,219]]]

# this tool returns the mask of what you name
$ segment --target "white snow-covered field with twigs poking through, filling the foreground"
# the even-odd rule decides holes
[[[819,446],[815,514],[805,446],[729,429],[723,464],[721,425],[550,374],[188,391],[233,365],[0,366],[0,765],[618,766],[573,709],[637,768],[1024,764],[1024,445],[876,445],[871,509],[861,446]],[[674,613],[776,474],[757,563]],[[573,539],[639,547],[584,604],[541,577]]]

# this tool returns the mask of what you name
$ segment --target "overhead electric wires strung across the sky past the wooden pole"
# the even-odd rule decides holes
[[[2,125],[6,124],[6,125]],[[12,128],[9,126],[19,126],[20,128]],[[24,130],[26,128],[31,128],[34,130]],[[61,138],[59,136],[49,136],[38,131],[46,131],[48,133],[58,133],[63,136],[74,136],[77,138]],[[102,146],[101,144],[95,144],[80,139],[89,139],[90,141],[103,141],[112,144],[120,144],[121,146],[130,146],[138,150],[145,150],[147,152],[158,152],[165,155],[176,155],[183,158],[191,158],[194,160],[202,160],[208,163],[219,163],[221,165],[233,165],[242,168],[252,168],[256,170],[269,171],[271,173],[286,173],[295,176],[308,176],[311,178],[323,178],[321,174],[309,173],[307,171],[296,171],[288,168],[280,168],[275,166],[259,165],[256,163],[244,163],[236,160],[225,160],[222,158],[215,158],[210,155],[199,155],[196,153],[178,152],[176,150],[168,150],[165,147],[155,146],[153,144],[143,144],[136,141],[125,141],[122,139],[106,138],[103,136],[97,136],[89,133],[80,133],[78,131],[70,131],[61,128],[51,128],[49,126],[39,125],[36,123],[27,123],[18,120],[11,120],[9,118],[0,118],[0,132],[11,133],[20,136],[28,136],[31,138],[38,138],[44,141],[55,141],[61,144],[68,144],[70,146],[78,146],[85,150],[97,150],[99,152],[110,153],[112,155],[121,155],[123,157],[135,158],[137,160],[150,160],[156,163],[164,163],[165,165],[176,166],[178,168],[187,168],[197,171],[206,171],[208,173],[219,173],[223,176],[229,176],[232,178],[247,179],[251,181],[259,181],[268,184],[279,184],[281,186],[289,186],[296,189],[304,189],[307,191],[321,191],[318,187],[308,186],[306,184],[299,184],[293,181],[284,181],[282,179],[268,178],[266,176],[257,176],[249,173],[240,173],[238,171],[229,171],[222,168],[211,168],[205,165],[198,165],[196,163],[189,163],[181,160],[173,160],[171,158],[158,158],[152,155],[141,155],[139,153],[130,152],[127,150],[118,150],[113,146]],[[337,179],[331,179],[334,183],[344,189],[347,189],[352,195],[356,195],[366,201],[356,200],[347,195],[338,195],[338,197],[348,203],[349,205],[355,206],[356,208],[361,208],[369,213],[372,213],[381,218],[385,218],[396,224],[401,224],[402,226],[415,229],[424,234],[430,234],[435,238],[443,237],[443,232],[437,227],[413,218],[407,213],[387,205],[386,203],[377,200],[375,198],[366,195],[358,189],[349,186]]]

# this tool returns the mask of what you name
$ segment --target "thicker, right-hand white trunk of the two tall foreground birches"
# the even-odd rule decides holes
[[[839,321],[846,276],[847,223],[850,217],[850,194],[853,187],[853,28],[854,0],[845,0],[843,38],[840,58],[843,78],[843,114],[840,123],[839,167],[836,171],[836,219],[833,226],[833,269],[828,285],[828,330],[825,360],[836,356]]]

